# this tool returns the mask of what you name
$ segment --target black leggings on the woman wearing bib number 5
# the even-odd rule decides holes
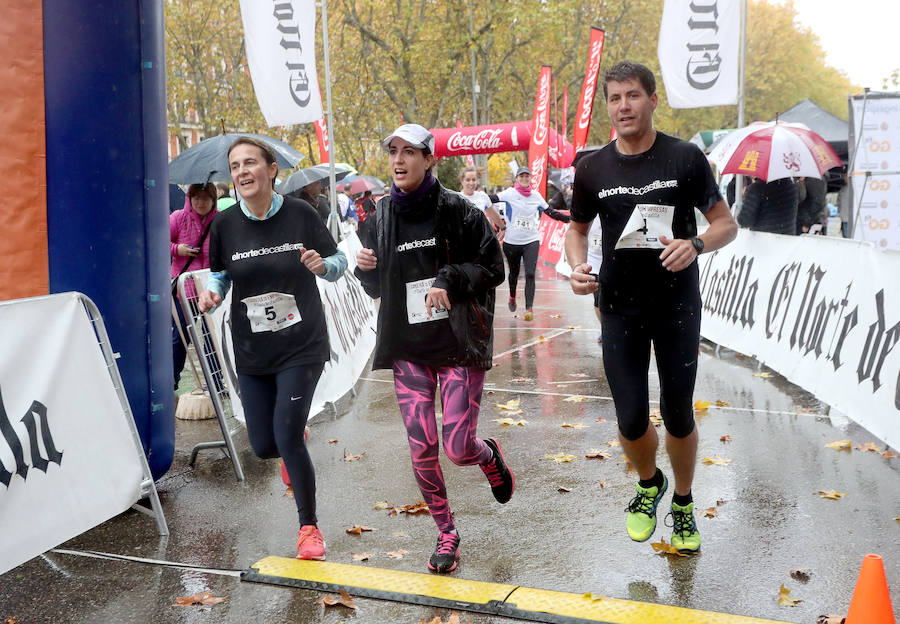
[[[308,364],[271,375],[238,375],[250,446],[263,459],[284,459],[300,526],[316,524],[316,474],[303,430],[324,366]]]

